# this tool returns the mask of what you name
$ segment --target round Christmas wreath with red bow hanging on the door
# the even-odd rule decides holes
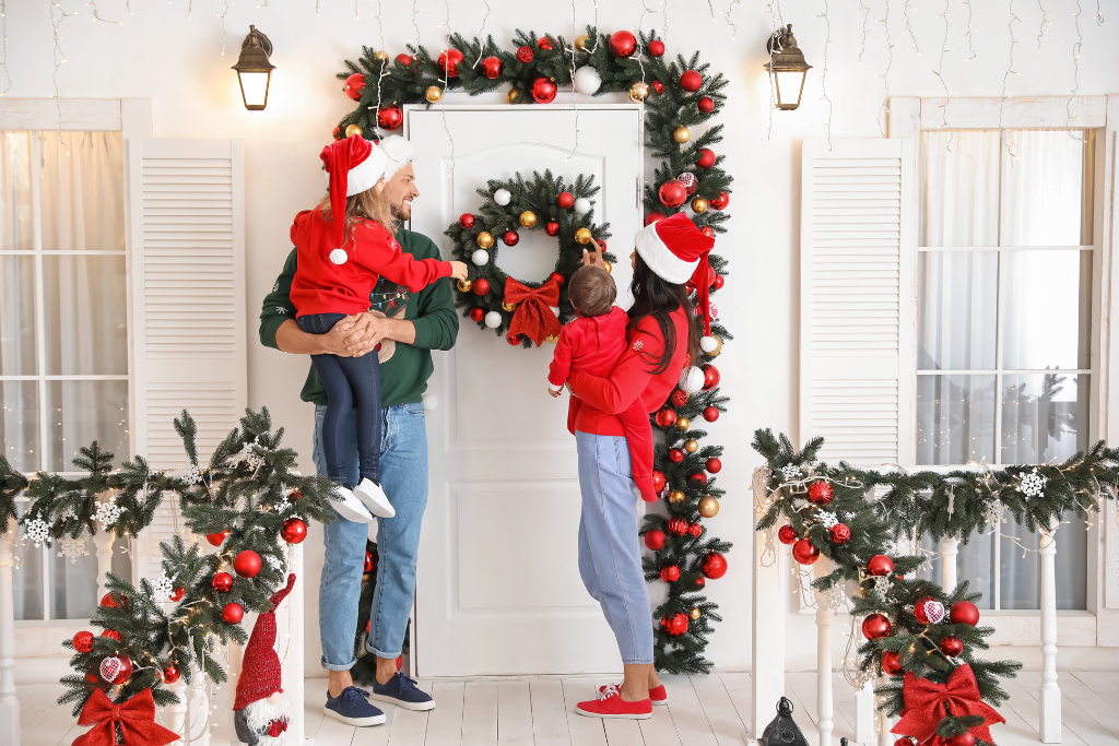
[[[572,318],[567,281],[582,266],[583,249],[593,237],[605,247],[606,228],[595,226],[591,198],[599,192],[594,177],[576,177],[573,185],[551,171],[518,173],[508,181],[488,181],[478,195],[486,199],[480,215],[463,213],[445,230],[454,240],[454,257],[470,265],[470,278],[458,284],[459,308],[481,329],[506,334],[510,344],[537,347],[556,341],[560,327]],[[556,238],[555,270],[539,282],[510,277],[497,264],[498,244],[520,243],[520,230],[544,230]],[[605,254],[606,267],[614,261]],[[558,309],[558,314],[551,309]]]

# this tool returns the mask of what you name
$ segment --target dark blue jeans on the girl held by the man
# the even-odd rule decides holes
[[[299,317],[295,323],[308,334],[326,334],[345,313],[310,313]],[[359,358],[340,358],[337,355],[312,355],[311,363],[322,387],[327,389],[327,412],[318,432],[322,435],[322,451],[327,463],[326,475],[332,482],[356,485],[361,479],[379,482],[380,471],[380,362],[376,353]],[[345,435],[350,412],[357,412],[357,453],[354,454]],[[316,418],[318,425],[318,418]],[[357,457],[352,457],[356,455]],[[359,479],[350,480],[357,463]]]

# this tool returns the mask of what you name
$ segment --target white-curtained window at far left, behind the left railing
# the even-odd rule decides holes
[[[96,440],[131,455],[120,132],[0,132],[0,409],[3,454],[67,472]],[[23,546],[16,618],[87,618],[97,560]],[[124,565],[122,566],[122,561]],[[130,575],[128,560],[113,570]]]

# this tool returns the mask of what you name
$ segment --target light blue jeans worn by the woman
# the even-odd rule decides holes
[[[637,501],[624,437],[575,432],[579,487],[579,574],[602,606],[623,663],[652,663],[649,594],[638,546]]]

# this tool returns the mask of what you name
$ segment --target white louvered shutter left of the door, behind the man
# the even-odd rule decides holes
[[[197,422],[205,463],[248,400],[242,143],[131,139],[128,159],[135,452],[152,469],[180,470],[179,413]],[[172,511],[168,500],[156,516],[158,540],[185,530]],[[158,553],[140,565],[142,577],[159,576]]]

